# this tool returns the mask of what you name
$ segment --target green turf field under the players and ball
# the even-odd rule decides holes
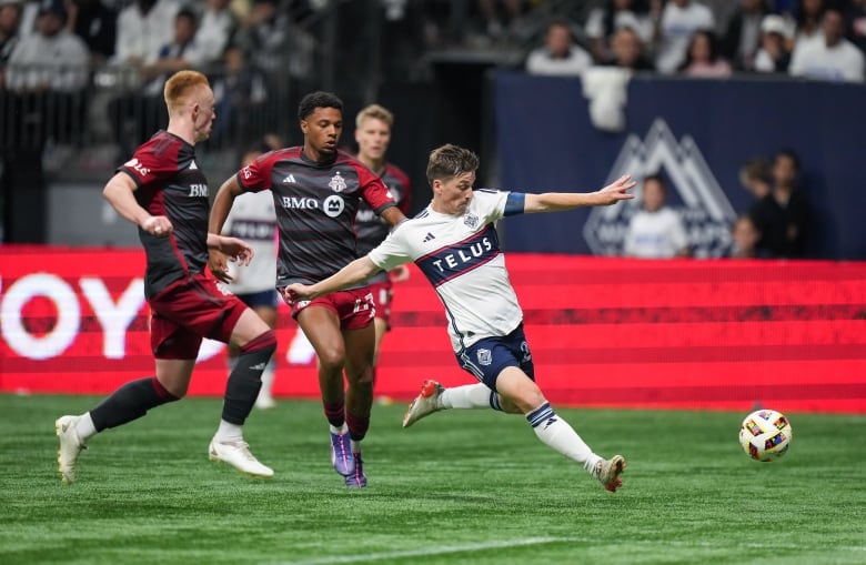
[[[866,416],[787,414],[789,453],[761,464],[736,440],[745,414],[561,410],[628,460],[611,494],[517,416],[403,430],[404,406],[377,404],[370,486],[349,491],[318,403],[253,413],[276,472],[255,481],[208,462],[221,402],[189,398],[94,437],[62,485],[53,421],[95,401],[0,395],[0,563],[866,563]]]

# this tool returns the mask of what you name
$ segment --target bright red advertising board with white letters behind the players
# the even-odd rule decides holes
[[[567,406],[866,413],[866,263],[575,255],[507,258],[537,380]],[[139,250],[0,246],[0,392],[108,393],[152,374]],[[399,283],[376,394],[473,382],[433,290]],[[274,392],[316,397],[309,343],[283,307]],[[202,345],[190,394],[220,395]]]

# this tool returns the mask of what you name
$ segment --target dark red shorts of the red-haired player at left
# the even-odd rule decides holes
[[[223,294],[203,273],[171,283],[148,301],[150,346],[157,359],[195,359],[204,337],[229,343],[246,304]]]

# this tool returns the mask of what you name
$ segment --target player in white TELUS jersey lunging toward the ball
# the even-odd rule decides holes
[[[480,383],[444,389],[422,385],[403,426],[444,408],[493,407],[523,414],[536,436],[580,463],[611,492],[622,485],[622,455],[605,460],[562,420],[535,383],[532,353],[523,333],[523,314],[505,269],[495,221],[507,215],[611,205],[632,199],[628,175],[591,193],[543,194],[473,190],[479,158],[443,145],[430,154],[427,181],[433,200],[416,218],[401,223],[366,256],[312,285],[290,284],[288,300],[351,286],[380,270],[414,261],[445,306],[449,334],[461,366]]]

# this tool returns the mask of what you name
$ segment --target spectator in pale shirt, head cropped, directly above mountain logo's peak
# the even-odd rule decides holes
[[[655,17],[655,68],[668,74],[685,60],[692,34],[699,29],[714,29],[716,24],[712,10],[693,0],[669,0]]]

